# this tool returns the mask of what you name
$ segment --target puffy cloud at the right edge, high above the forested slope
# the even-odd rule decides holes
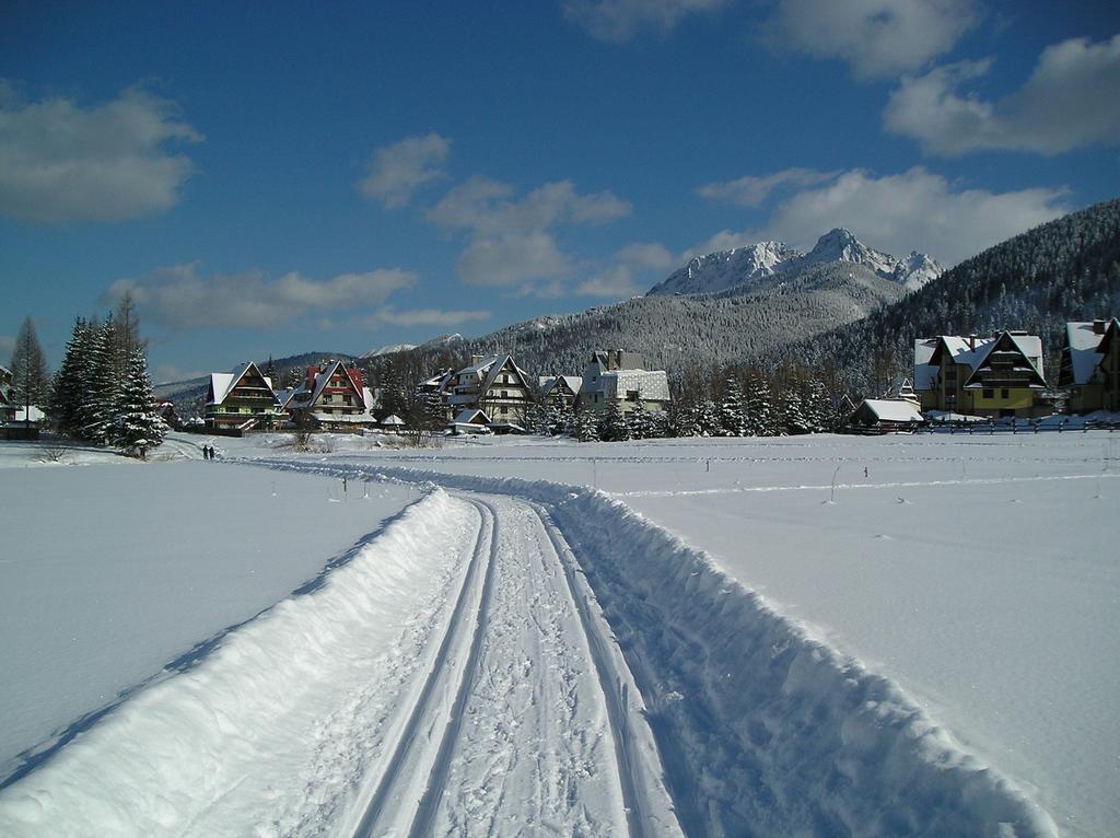
[[[904,78],[884,111],[887,129],[946,157],[983,149],[1057,155],[1120,143],[1120,35],[1047,47],[1023,87],[999,101],[958,92],[990,66],[963,62]]]

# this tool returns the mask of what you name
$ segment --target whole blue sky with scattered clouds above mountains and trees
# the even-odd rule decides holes
[[[1120,194],[1120,9],[0,3],[0,356],[158,380],[642,292],[832,226],[951,266]]]

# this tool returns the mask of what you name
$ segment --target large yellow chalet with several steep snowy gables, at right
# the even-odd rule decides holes
[[[1043,346],[1035,335],[941,335],[914,342],[914,390],[922,412],[991,418],[1047,416]]]

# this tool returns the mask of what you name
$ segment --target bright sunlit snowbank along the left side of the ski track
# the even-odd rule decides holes
[[[0,791],[0,835],[318,834],[403,724],[477,527],[444,493],[410,506]]]

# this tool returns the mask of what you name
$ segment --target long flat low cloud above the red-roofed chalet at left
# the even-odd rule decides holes
[[[203,277],[195,264],[178,264],[142,279],[118,280],[104,299],[113,302],[131,291],[144,317],[171,328],[269,327],[309,311],[377,305],[414,281],[414,274],[398,268],[316,281],[299,273],[269,280],[259,271]]]

